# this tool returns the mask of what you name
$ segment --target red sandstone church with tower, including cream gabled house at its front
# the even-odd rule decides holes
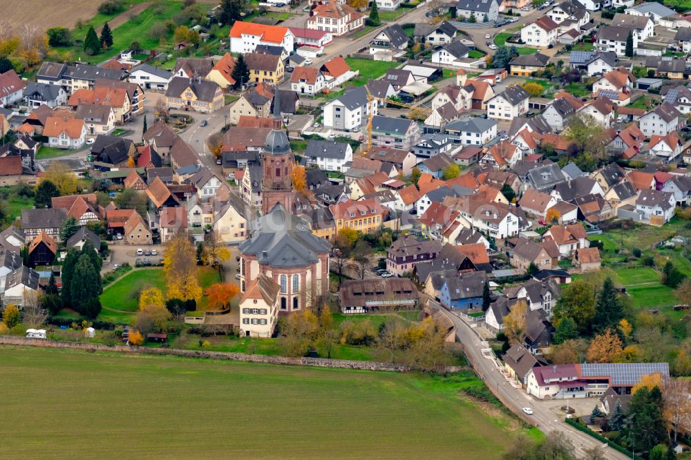
[[[274,118],[281,119],[278,93]],[[309,308],[329,289],[330,243],[290,213],[294,166],[287,134],[273,129],[261,155],[262,216],[249,222],[250,238],[240,243],[240,329],[246,336],[267,336],[277,314]]]

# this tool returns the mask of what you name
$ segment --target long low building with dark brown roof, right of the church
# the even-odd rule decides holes
[[[413,309],[418,300],[417,287],[408,278],[348,280],[339,288],[339,308],[343,314]]]

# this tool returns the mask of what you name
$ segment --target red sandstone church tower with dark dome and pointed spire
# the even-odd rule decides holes
[[[278,98],[278,86],[274,94],[274,119],[276,126],[267,135],[262,153],[263,177],[262,188],[262,213],[266,215],[278,203],[282,204],[290,213],[294,198],[290,171],[295,166],[295,158],[290,151],[288,136],[281,129],[281,104]]]

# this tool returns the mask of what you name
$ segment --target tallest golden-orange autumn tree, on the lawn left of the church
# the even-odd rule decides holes
[[[197,253],[187,233],[178,231],[166,244],[163,271],[167,280],[167,298],[200,300],[202,288],[197,278]]]

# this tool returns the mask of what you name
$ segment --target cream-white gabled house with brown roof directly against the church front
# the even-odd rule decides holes
[[[240,334],[245,337],[269,338],[274,334],[278,316],[280,287],[261,273],[249,282],[240,298]]]

